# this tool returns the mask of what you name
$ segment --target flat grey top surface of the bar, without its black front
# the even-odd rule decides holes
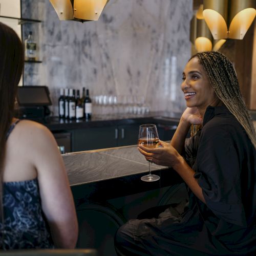
[[[62,155],[71,186],[147,174],[148,163],[137,145]],[[151,164],[152,172],[167,167]]]

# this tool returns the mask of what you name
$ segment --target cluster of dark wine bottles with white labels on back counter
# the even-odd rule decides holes
[[[60,89],[59,117],[67,119],[90,119],[92,117],[92,100],[89,90]]]

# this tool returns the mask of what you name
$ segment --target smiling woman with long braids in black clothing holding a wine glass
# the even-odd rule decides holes
[[[139,145],[188,187],[182,214],[172,207],[130,220],[116,233],[118,255],[254,255],[256,139],[232,63],[219,52],[187,62],[181,89],[187,109],[170,143]],[[185,139],[188,131],[191,137]]]

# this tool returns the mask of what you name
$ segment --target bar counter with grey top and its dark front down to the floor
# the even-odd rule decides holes
[[[99,255],[115,256],[117,229],[140,212],[184,197],[176,172],[151,164],[155,182],[141,181],[148,163],[137,145],[62,155],[79,223],[78,248],[96,248]]]

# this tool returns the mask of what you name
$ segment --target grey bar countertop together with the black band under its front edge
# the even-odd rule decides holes
[[[155,182],[141,181],[148,162],[137,145],[74,152],[62,155],[70,186],[78,206],[182,183],[172,168],[151,164]]]

